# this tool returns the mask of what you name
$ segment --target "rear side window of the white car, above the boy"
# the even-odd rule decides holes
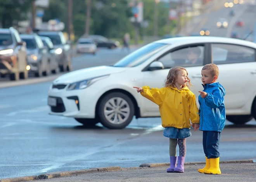
[[[243,63],[255,61],[255,50],[234,44],[212,44],[214,64]]]

